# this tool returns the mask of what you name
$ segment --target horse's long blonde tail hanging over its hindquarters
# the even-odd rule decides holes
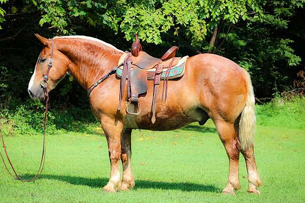
[[[239,142],[241,150],[247,150],[250,147],[253,147],[254,144],[256,116],[255,97],[250,75],[245,69],[243,69],[243,72],[245,72],[246,75],[248,95],[246,99],[246,106],[242,110],[239,120]]]

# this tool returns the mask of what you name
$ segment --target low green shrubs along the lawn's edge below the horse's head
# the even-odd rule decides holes
[[[4,134],[21,134],[31,136],[43,132],[44,105],[41,101],[27,100],[26,105],[19,105],[15,109],[2,109],[0,118]],[[71,107],[68,110],[50,109],[48,112],[47,131],[49,134],[60,132],[92,133],[97,126],[92,112],[88,109]]]

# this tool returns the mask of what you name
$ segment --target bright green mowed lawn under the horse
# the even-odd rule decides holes
[[[33,175],[42,137],[5,140],[17,170]],[[110,170],[106,138],[72,132],[47,137],[45,169],[34,183],[13,180],[2,164],[0,202],[305,202],[305,130],[257,127],[261,195],[247,193],[242,156],[241,190],[234,196],[221,194],[228,158],[211,121],[173,131],[134,130],[132,142],[136,186],[129,192],[102,192]]]

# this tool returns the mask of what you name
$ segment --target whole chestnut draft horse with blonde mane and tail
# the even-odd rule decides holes
[[[28,84],[33,99],[44,98],[41,87],[48,70],[53,41],[53,66],[48,73],[48,89],[52,90],[66,75],[71,74],[87,90],[118,64],[123,51],[95,38],[84,36],[36,37],[44,45],[34,74]],[[135,181],[131,168],[131,132],[136,128],[127,121],[126,104],[117,111],[120,80],[110,76],[97,86],[89,97],[90,108],[100,121],[108,142],[111,165],[110,178],[104,191],[129,190]],[[147,94],[139,98],[141,113],[135,116],[136,126],[149,130],[173,130],[192,122],[203,125],[209,118],[229,158],[229,178],[224,194],[240,189],[238,178],[239,152],[245,157],[249,188],[257,190],[262,182],[257,172],[253,140],[255,134],[255,97],[249,73],[231,60],[214,54],[198,54],[187,59],[185,74],[168,81],[166,103],[159,94],[156,122],[151,123],[153,81],[148,81]],[[162,86],[161,82],[161,86]],[[126,99],[126,92],[123,96]],[[119,159],[123,163],[120,178]]]

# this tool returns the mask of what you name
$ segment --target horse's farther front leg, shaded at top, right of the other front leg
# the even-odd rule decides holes
[[[121,139],[121,161],[123,164],[123,181],[120,190],[129,190],[135,186],[135,180],[131,170],[131,131],[126,129]]]

